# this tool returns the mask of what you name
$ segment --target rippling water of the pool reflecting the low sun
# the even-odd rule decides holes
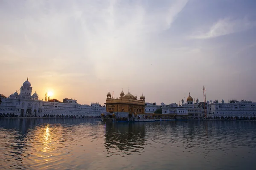
[[[0,119],[0,169],[254,170],[256,122]]]

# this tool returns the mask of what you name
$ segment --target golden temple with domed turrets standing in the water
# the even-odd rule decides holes
[[[119,98],[111,98],[111,93],[108,92],[105,105],[106,111],[108,113],[114,113],[116,118],[133,117],[132,115],[134,113],[145,113],[145,96],[142,95],[140,96],[140,100],[137,100],[137,96],[130,94],[129,90],[128,94],[124,94],[121,91]]]

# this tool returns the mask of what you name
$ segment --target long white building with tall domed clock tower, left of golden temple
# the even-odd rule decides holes
[[[44,102],[39,100],[36,92],[32,94],[32,87],[28,79],[17,91],[7,98],[1,98],[0,116],[7,117],[92,117],[106,113],[106,108],[99,103],[80,105],[76,100],[64,99],[64,102]]]

